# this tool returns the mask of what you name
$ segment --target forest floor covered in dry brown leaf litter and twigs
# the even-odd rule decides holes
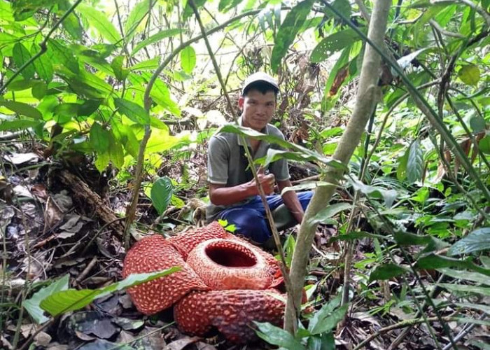
[[[51,161],[45,160],[43,151],[34,142],[3,141],[1,157],[5,176],[0,179],[0,225],[1,264],[5,273],[1,290],[1,349],[14,349],[16,332],[17,349],[272,349],[264,342],[237,346],[220,335],[205,339],[184,335],[173,323],[172,310],[144,316],[134,308],[124,291],[97,299],[81,311],[64,314],[43,325],[33,323],[18,305],[46,286],[46,281],[69,274],[71,288],[80,289],[101,288],[121,279],[125,249],[123,221],[119,218],[131,199],[129,186],[121,186],[110,171],[99,174],[85,156],[67,155],[64,161]],[[195,177],[191,179],[194,186],[177,195],[188,201],[194,197],[195,190],[203,186],[205,163],[203,156],[186,162],[195,170],[190,175]],[[174,167],[174,172],[175,169],[179,167]],[[173,176],[178,177],[178,174]],[[141,195],[133,237],[148,235],[153,230],[174,235],[188,229],[193,222],[192,213],[183,212],[186,209],[189,208],[168,211],[165,219],[153,225],[158,214],[151,201]],[[294,230],[286,233],[293,234]],[[311,250],[308,283],[316,285],[312,298],[317,300],[313,304],[316,309],[336,295],[342,286],[340,249],[328,241],[335,234],[334,228],[321,230]],[[408,314],[400,300],[394,302],[400,294],[406,293],[400,281],[363,285],[366,281],[364,268],[369,265],[374,249],[370,239],[361,240],[356,248],[354,262],[360,263],[354,265],[352,274],[353,303],[346,323],[337,328],[337,349],[353,349],[355,344],[375,334],[379,336],[369,342],[367,349],[437,348],[423,324],[411,328],[405,337],[397,340],[398,344],[395,342],[409,329],[400,322],[414,318],[414,314]],[[402,257],[397,258],[402,262]],[[423,274],[422,279],[433,282],[437,272]],[[27,281],[32,283],[29,293],[25,290]],[[408,283],[418,288],[416,281]],[[442,293],[439,297],[447,295]],[[448,315],[450,311],[443,316]],[[477,318],[478,314],[468,316]],[[395,324],[400,327],[384,332],[383,328]],[[432,325],[440,346],[448,344],[440,323],[433,321]],[[456,322],[448,325],[454,335],[464,326]],[[488,328],[472,329],[471,339],[488,342]],[[459,344],[459,349],[477,349],[469,342]]]

